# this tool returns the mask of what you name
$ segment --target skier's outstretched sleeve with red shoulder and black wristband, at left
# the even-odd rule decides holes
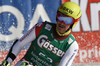
[[[12,63],[16,56],[20,53],[20,51],[29,43],[35,40],[35,38],[38,36],[40,30],[42,29],[44,23],[37,23],[35,26],[33,26],[24,36],[22,36],[19,40],[16,40],[11,49],[9,50],[9,53],[6,57],[6,61]]]

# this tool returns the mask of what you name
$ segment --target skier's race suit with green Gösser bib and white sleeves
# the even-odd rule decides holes
[[[42,22],[12,46],[6,60],[12,63],[14,59],[9,57],[10,54],[17,56],[30,42],[24,59],[37,66],[71,66],[78,51],[78,44],[72,34],[59,36],[56,24]]]

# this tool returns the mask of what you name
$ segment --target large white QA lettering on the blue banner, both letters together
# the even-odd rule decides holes
[[[13,6],[9,6],[9,5],[4,5],[0,7],[0,13],[3,12],[10,12],[12,13],[18,22],[18,26],[17,28],[15,28],[14,26],[11,26],[9,28],[9,31],[12,32],[11,35],[2,35],[0,34],[0,40],[1,41],[12,41],[16,38],[20,38],[23,35],[23,30],[24,30],[24,26],[25,26],[25,20],[24,20],[24,16],[23,14],[15,7]],[[43,7],[42,4],[38,4],[36,7],[36,10],[34,12],[33,18],[30,21],[31,24],[29,26],[29,29],[32,28],[39,20],[39,18],[42,18],[43,21],[50,21],[50,18],[48,17],[45,8]],[[10,38],[9,38],[10,37]]]

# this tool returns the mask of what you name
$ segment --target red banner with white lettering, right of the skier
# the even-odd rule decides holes
[[[100,62],[100,0],[63,0],[73,1],[80,5],[82,17],[78,32],[73,32],[79,52],[74,63]]]

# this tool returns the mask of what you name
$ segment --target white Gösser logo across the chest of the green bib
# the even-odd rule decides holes
[[[51,44],[51,41],[48,40],[48,37],[46,35],[41,35],[37,40],[37,44],[40,48],[45,48],[59,57],[62,57],[65,54],[64,51]]]

